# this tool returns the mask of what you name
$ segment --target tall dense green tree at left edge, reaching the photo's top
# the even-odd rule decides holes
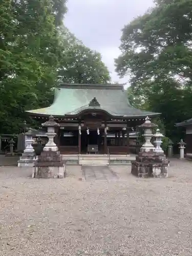
[[[25,110],[52,95],[60,57],[55,15],[49,0],[2,1],[0,133],[18,132]]]

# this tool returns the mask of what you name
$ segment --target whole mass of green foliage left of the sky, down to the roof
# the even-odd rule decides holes
[[[25,110],[52,103],[58,74],[68,82],[110,79],[100,55],[62,29],[65,4],[66,0],[1,1],[0,134],[18,133],[24,119],[31,122]]]

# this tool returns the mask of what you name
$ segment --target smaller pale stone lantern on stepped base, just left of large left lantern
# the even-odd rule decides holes
[[[34,162],[36,160],[35,151],[32,147],[33,143],[33,134],[32,131],[29,130],[26,134],[26,148],[22,156],[20,156],[18,160],[18,167],[33,167]]]

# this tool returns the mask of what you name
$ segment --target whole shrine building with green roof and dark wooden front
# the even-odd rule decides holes
[[[41,123],[55,118],[61,154],[129,154],[130,133],[160,115],[131,106],[123,84],[60,84],[51,106],[27,113]]]

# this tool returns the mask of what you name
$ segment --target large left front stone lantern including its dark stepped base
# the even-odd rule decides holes
[[[55,127],[59,124],[50,116],[49,121],[42,123],[42,126],[48,127],[49,141],[34,164],[32,178],[63,178],[66,176],[66,162],[62,160],[54,143]]]

